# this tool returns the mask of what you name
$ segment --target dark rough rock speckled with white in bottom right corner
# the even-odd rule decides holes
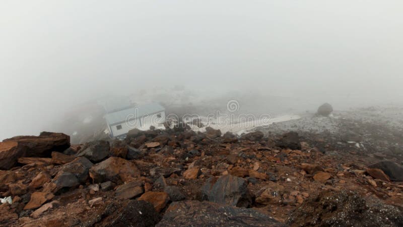
[[[352,191],[324,191],[305,201],[288,219],[291,226],[403,226],[403,213]]]

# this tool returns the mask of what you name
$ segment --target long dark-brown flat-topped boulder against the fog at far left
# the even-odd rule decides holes
[[[16,136],[3,140],[7,141],[17,141],[26,146],[27,157],[50,157],[52,151],[64,151],[70,147],[70,136],[63,133],[42,132],[39,136]]]

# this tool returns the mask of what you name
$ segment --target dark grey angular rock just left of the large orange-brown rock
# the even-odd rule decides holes
[[[60,171],[74,174],[80,183],[85,183],[88,179],[89,169],[92,162],[85,157],[77,157],[73,161],[64,164]]]

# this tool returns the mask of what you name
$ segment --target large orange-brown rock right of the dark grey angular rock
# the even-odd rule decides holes
[[[140,171],[134,163],[119,157],[109,157],[93,165],[89,173],[95,183],[111,181],[121,184],[140,177]]]

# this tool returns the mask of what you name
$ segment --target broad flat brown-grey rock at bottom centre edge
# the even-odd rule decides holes
[[[226,206],[196,200],[173,202],[162,220],[165,226],[285,226],[274,218],[254,209]]]

